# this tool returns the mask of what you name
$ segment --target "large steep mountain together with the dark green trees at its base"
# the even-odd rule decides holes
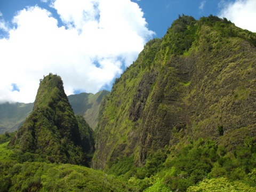
[[[226,19],[180,16],[116,79],[94,169],[173,191],[219,177],[254,186],[255,45]]]

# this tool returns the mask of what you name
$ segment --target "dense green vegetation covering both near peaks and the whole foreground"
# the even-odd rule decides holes
[[[255,191],[255,46],[225,18],[179,16],[101,98],[97,134],[50,74],[21,131],[0,137],[1,190]],[[94,138],[101,171],[83,166]]]

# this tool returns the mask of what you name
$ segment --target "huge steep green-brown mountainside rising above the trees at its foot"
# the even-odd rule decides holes
[[[210,15],[182,15],[153,39],[102,103],[93,167],[210,138],[228,151],[255,138],[256,35]],[[175,152],[176,151],[176,152]]]

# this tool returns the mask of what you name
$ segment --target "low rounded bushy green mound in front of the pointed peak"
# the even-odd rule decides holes
[[[127,191],[111,175],[70,164],[0,161],[1,191]]]

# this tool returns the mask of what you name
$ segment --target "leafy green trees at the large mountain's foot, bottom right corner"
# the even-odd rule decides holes
[[[230,190],[229,187],[234,191],[253,191],[256,184],[254,142],[247,138],[244,143],[234,153],[227,153],[215,141],[198,139],[183,146],[175,157],[169,156],[164,163],[164,171],[158,174],[163,175],[163,183],[173,191],[211,191],[218,182],[216,189],[223,191]],[[223,185],[225,182],[221,183],[222,177],[225,177],[227,186]]]

